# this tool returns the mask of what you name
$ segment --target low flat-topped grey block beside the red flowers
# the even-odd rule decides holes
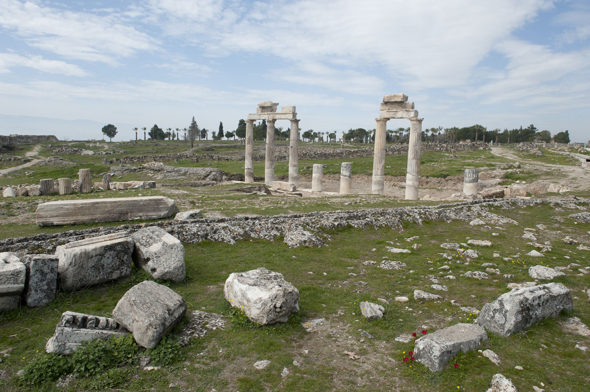
[[[419,338],[414,357],[431,371],[441,371],[451,357],[467,353],[487,339],[486,330],[479,325],[455,324]]]

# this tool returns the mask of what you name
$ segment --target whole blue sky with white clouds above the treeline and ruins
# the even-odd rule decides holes
[[[590,2],[0,0],[0,134],[101,139],[111,123],[130,140],[193,116],[228,131],[266,100],[340,134],[374,129],[394,93],[422,129],[588,141]]]

